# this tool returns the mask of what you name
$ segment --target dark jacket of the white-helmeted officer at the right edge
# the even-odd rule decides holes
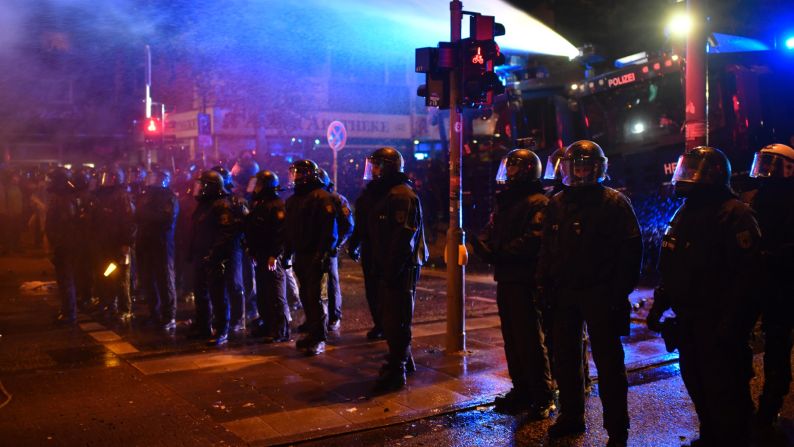
[[[770,179],[771,180],[771,179]],[[750,206],[761,229],[760,249],[767,281],[794,289],[794,181],[765,180]]]

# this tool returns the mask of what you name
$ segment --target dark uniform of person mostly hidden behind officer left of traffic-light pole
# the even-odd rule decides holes
[[[364,294],[367,298],[369,313],[372,315],[373,328],[370,331],[373,337],[377,338],[383,333],[383,325],[380,320],[380,300],[378,299],[378,278],[375,276],[374,264],[372,259],[372,242],[367,233],[369,212],[374,205],[379,192],[379,182],[370,182],[356,199],[355,211],[353,213],[355,222],[358,225],[353,227],[353,233],[347,241],[347,249],[354,259],[361,259],[361,270],[364,274]]]

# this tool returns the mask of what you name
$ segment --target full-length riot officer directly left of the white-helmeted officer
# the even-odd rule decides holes
[[[757,316],[760,233],[730,178],[730,163],[718,149],[696,147],[678,159],[673,185],[685,201],[662,241],[662,277],[647,320],[651,330],[664,330],[668,349],[678,347],[681,377],[700,420],[693,445],[749,445],[748,341]],[[668,308],[676,319],[660,323]]]

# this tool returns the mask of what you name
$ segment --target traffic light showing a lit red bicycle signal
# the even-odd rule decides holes
[[[494,37],[505,33],[505,28],[493,16],[473,15],[470,21],[471,37],[463,39],[459,51],[462,73],[462,101],[467,107],[493,104],[494,95],[504,93],[502,81],[494,72],[497,65],[505,63]]]

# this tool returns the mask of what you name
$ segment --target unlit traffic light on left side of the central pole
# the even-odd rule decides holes
[[[425,83],[416,90],[425,98],[425,105],[449,108],[449,70],[454,65],[454,48],[449,42],[439,42],[437,48],[416,49],[416,72],[425,74]]]

